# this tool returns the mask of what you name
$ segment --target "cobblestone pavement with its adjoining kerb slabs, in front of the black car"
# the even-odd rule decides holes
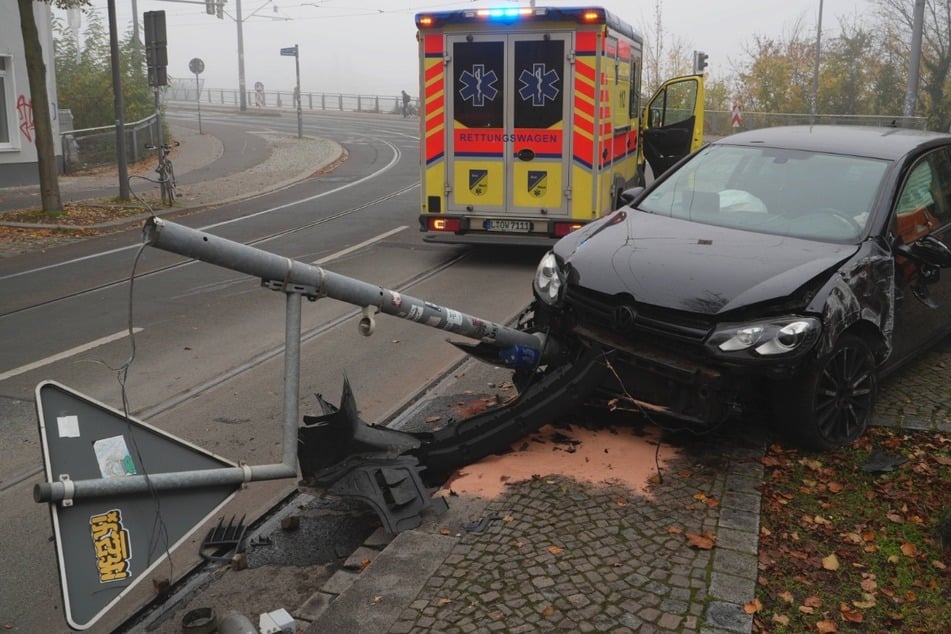
[[[493,500],[451,497],[462,519],[361,549],[295,616],[315,634],[749,632],[765,438],[730,428],[663,442],[679,455],[648,493],[541,474]],[[428,569],[388,561],[411,550]],[[361,579],[386,570],[402,575],[402,598]]]

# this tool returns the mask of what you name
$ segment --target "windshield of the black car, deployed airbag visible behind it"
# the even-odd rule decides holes
[[[638,208],[723,227],[851,242],[865,231],[888,162],[776,148],[710,145]]]

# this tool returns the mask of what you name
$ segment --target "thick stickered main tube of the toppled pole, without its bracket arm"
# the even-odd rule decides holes
[[[544,334],[479,319],[154,216],[146,222],[143,234],[150,246],[260,277],[274,290],[299,292],[312,300],[330,297],[359,306],[363,308],[359,326],[364,335],[373,333],[374,314],[381,312],[478,339],[500,351],[514,350],[510,356],[520,358],[523,365],[544,364],[557,352],[551,342],[546,342]]]

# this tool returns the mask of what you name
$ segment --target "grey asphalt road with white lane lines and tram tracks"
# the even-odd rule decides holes
[[[216,135],[236,135],[232,140],[241,128],[296,130],[290,119],[203,113],[202,120]],[[415,121],[312,116],[304,132],[337,141],[349,159],[297,186],[180,222],[495,321],[528,303],[538,250],[472,251],[421,241]],[[6,631],[68,631],[48,510],[31,496],[44,479],[33,411],[39,382],[53,380],[121,409],[117,368],[131,357],[126,395],[133,416],[235,462],[280,462],[283,293],[153,248],[136,261],[140,242],[133,231],[0,261],[0,624]],[[357,307],[331,299],[305,302],[302,414],[316,413],[312,393],[336,401],[346,374],[361,416],[386,420],[461,358],[446,333],[394,318],[378,318],[376,333],[363,337],[358,315]],[[130,320],[141,329],[134,347]],[[221,515],[246,514],[250,521],[296,484],[252,483]],[[206,532],[196,531],[153,578],[174,580],[191,568]],[[150,600],[154,590],[145,585],[95,631],[111,630]]]

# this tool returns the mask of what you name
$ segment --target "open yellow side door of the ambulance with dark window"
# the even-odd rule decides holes
[[[703,75],[668,79],[644,107],[638,171],[656,178],[703,145]]]

